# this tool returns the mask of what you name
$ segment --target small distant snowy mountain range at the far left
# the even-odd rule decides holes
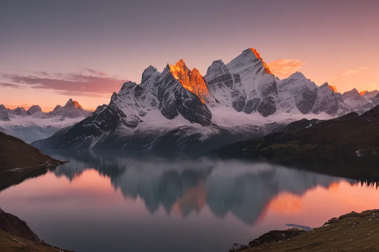
[[[57,105],[48,113],[42,112],[38,105],[31,106],[27,111],[22,107],[11,110],[0,105],[0,131],[30,143],[47,138],[61,128],[72,126],[91,113],[73,99],[64,106]]]

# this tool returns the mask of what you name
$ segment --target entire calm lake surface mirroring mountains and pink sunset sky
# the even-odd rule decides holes
[[[70,160],[0,192],[0,207],[76,252],[227,252],[286,223],[379,208],[355,180],[268,163],[48,152]]]

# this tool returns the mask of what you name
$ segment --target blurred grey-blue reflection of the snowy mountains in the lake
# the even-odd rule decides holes
[[[120,189],[125,198],[143,199],[152,214],[163,206],[167,214],[177,211],[185,218],[208,205],[217,217],[230,212],[249,225],[281,192],[301,196],[309,189],[327,189],[342,180],[356,184],[351,179],[238,160],[133,158],[94,152],[82,153],[81,160],[52,156],[70,161],[54,170],[57,177],[73,181],[85,170],[96,169],[110,177],[114,189]]]

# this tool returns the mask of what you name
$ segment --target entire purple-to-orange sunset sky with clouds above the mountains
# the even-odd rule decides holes
[[[379,89],[377,0],[0,0],[0,104],[94,110],[149,65],[202,75],[253,47],[279,78]]]

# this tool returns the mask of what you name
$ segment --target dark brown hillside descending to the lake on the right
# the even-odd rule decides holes
[[[226,145],[223,158],[269,158],[273,162],[350,178],[379,178],[379,106],[327,121],[301,120],[283,132]],[[325,162],[334,168],[325,168]],[[330,165],[328,167],[331,167]]]

